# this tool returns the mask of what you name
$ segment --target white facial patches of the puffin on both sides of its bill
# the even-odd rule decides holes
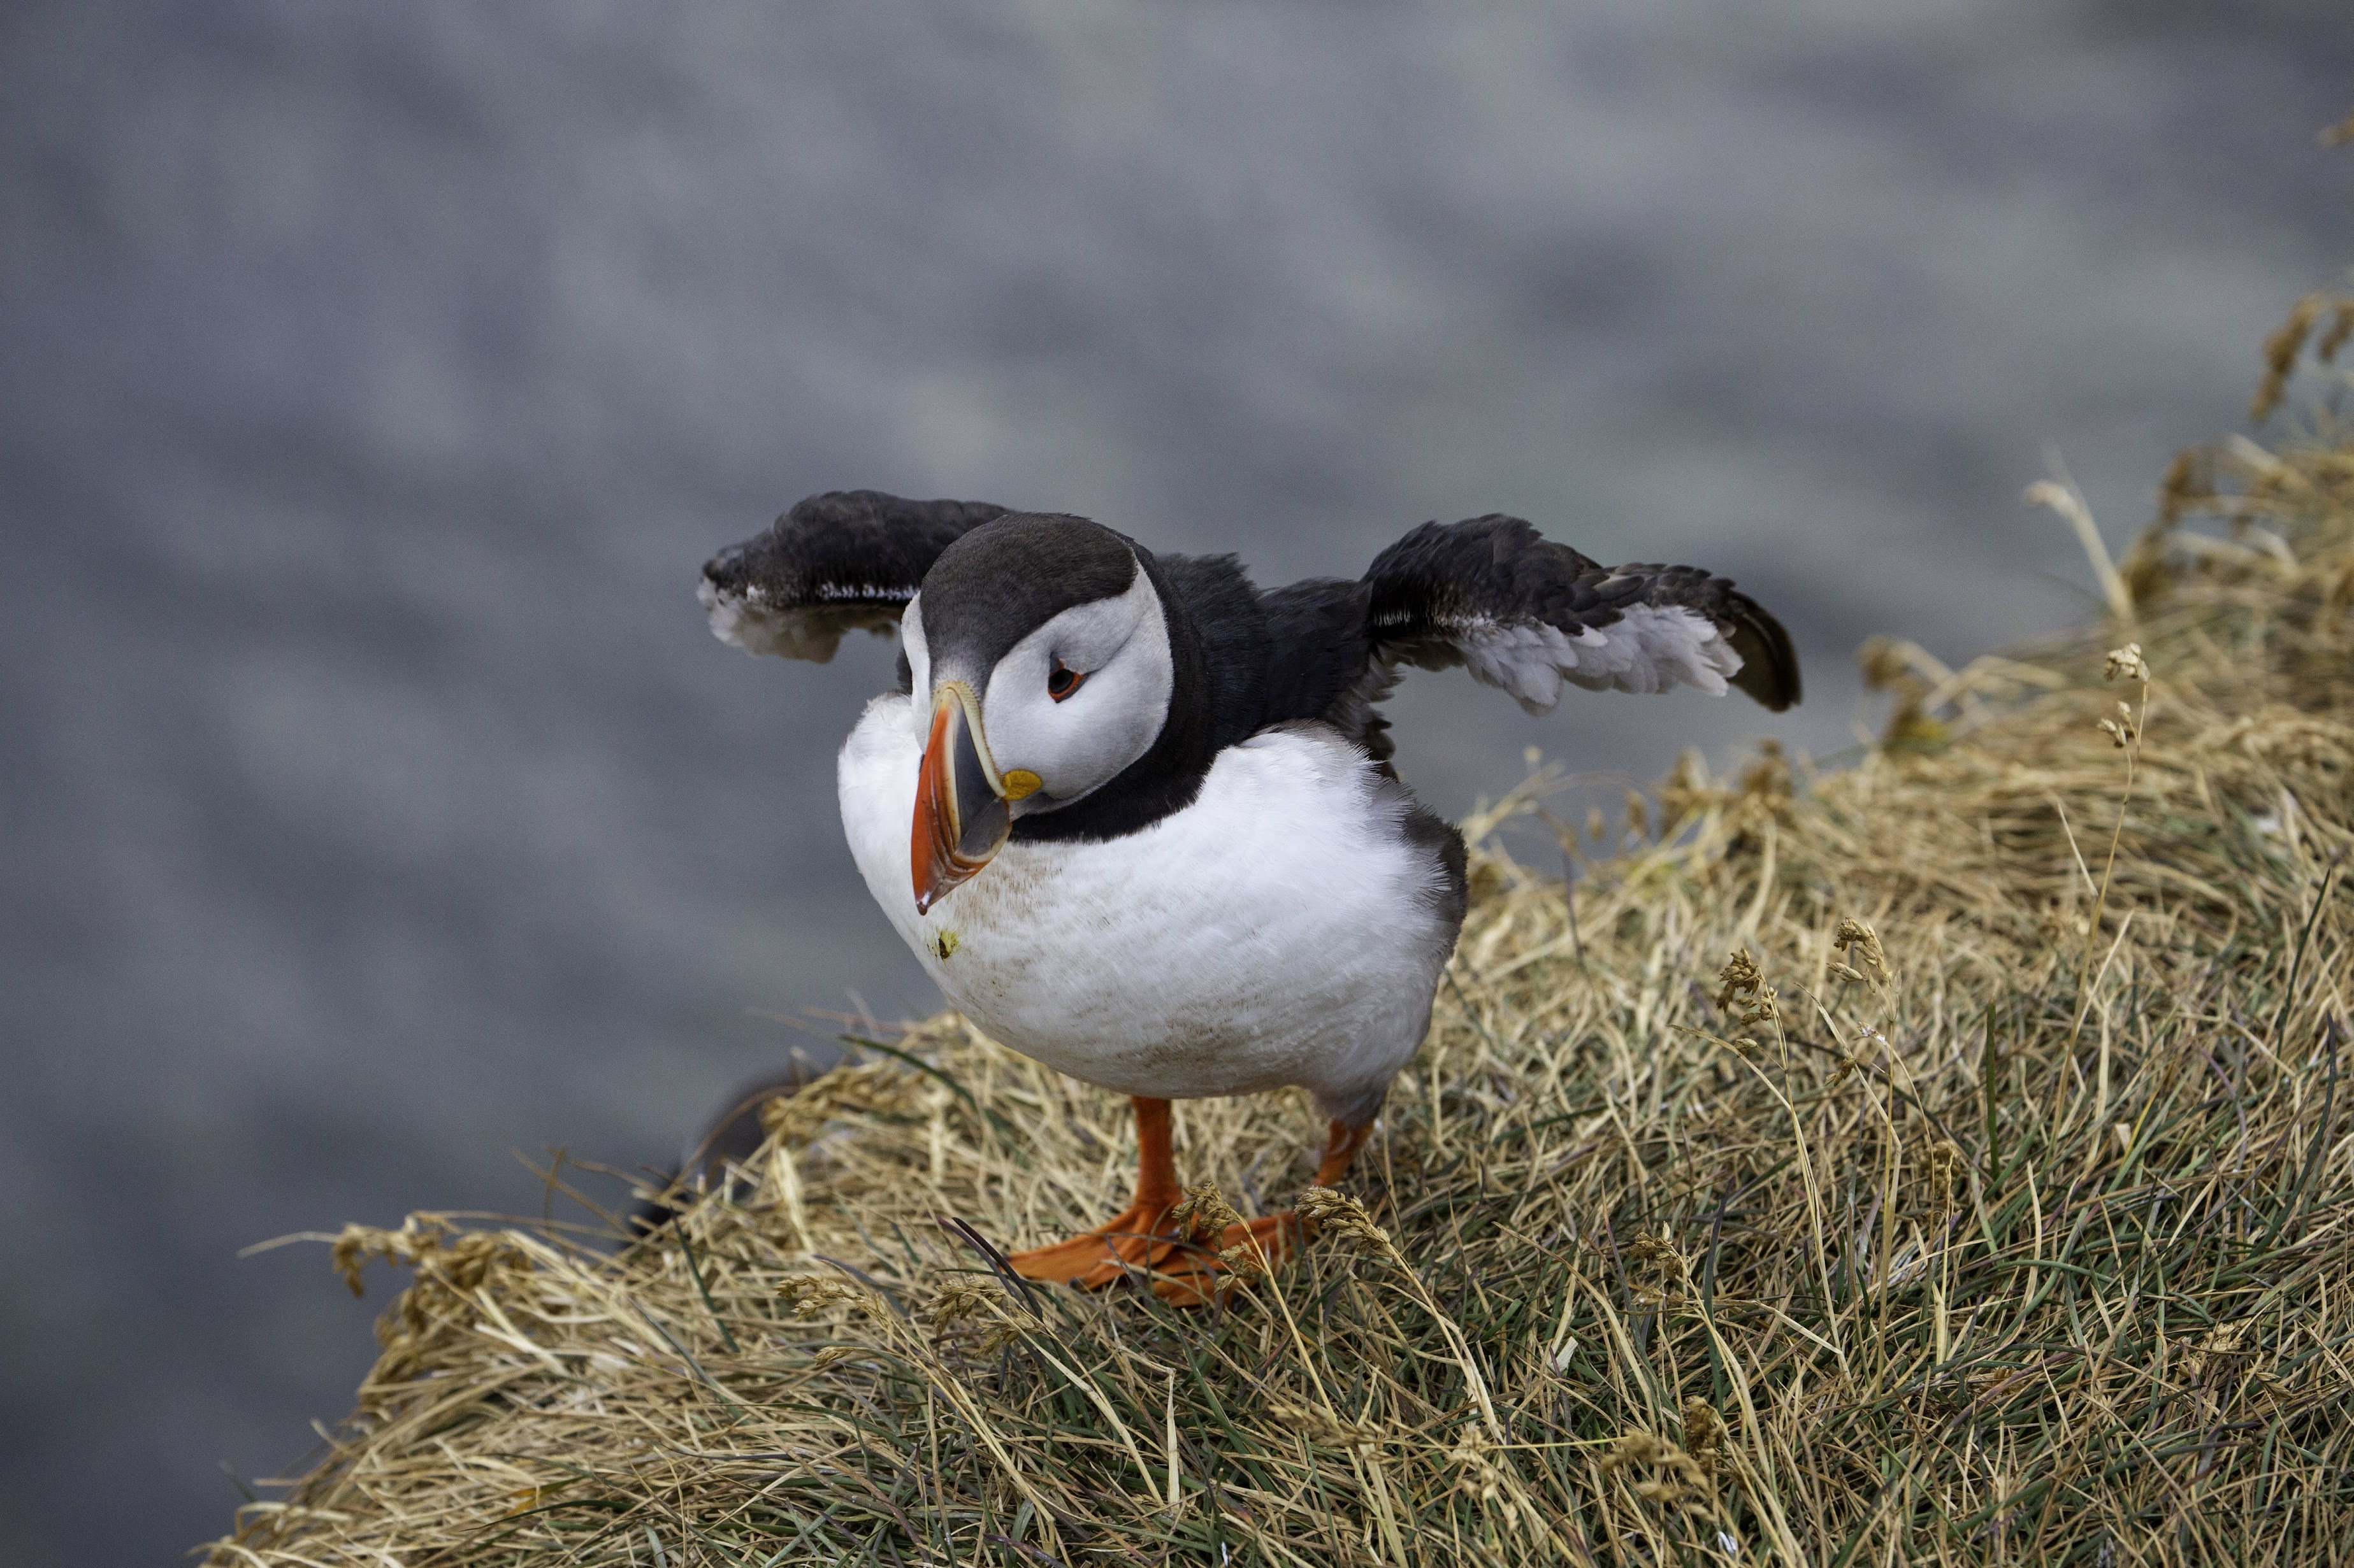
[[[932,655],[920,596],[902,617],[902,636],[918,735],[927,735]],[[998,775],[1026,768],[1040,779],[1038,793],[1015,812],[1069,805],[1116,779],[1151,751],[1175,685],[1161,596],[1142,567],[1125,593],[1071,605],[1015,643],[979,692],[984,744]]]

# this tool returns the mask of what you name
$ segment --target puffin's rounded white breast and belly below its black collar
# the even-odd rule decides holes
[[[1405,796],[1323,725],[1222,751],[1201,796],[1106,843],[1008,843],[916,913],[920,751],[878,697],[840,758],[843,829],[949,1003],[1015,1050],[1125,1095],[1285,1083],[1370,1114],[1422,1043],[1455,932]]]

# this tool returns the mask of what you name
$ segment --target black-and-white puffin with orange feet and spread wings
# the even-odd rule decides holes
[[[1789,633],[1733,582],[1603,567],[1502,513],[1259,589],[1078,516],[838,490],[713,556],[699,598],[753,655],[897,631],[897,685],[836,770],[869,892],[951,1008],[1135,1102],[1128,1208],[1008,1262],[1184,1304],[1302,1231],[1281,1212],[1201,1245],[1170,1102],[1304,1088],[1337,1187],[1429,1029],[1467,878],[1391,768],[1379,704],[1408,666],[1532,713],[1563,685],[1798,702]]]

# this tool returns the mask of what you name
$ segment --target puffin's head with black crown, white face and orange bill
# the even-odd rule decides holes
[[[1135,546],[1012,513],[932,563],[902,619],[923,772],[916,911],[989,864],[1012,819],[1102,789],[1151,751],[1177,673]]]

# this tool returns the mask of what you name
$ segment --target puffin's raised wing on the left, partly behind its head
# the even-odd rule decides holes
[[[897,626],[939,551],[1003,516],[986,501],[829,490],[713,556],[697,596],[723,643],[824,664],[845,631]]]

